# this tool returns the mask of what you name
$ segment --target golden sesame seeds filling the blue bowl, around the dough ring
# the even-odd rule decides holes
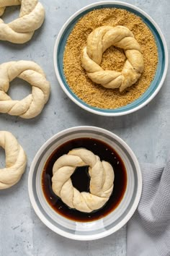
[[[130,88],[120,93],[118,89],[107,89],[92,82],[81,67],[81,51],[86,39],[97,27],[103,25],[128,27],[140,44],[144,72]],[[111,46],[104,52],[101,67],[122,71],[125,54],[120,48]],[[95,9],[84,15],[73,27],[68,37],[63,57],[63,70],[69,87],[82,101],[98,108],[119,108],[138,99],[151,84],[158,64],[158,50],[151,30],[135,14],[125,9]]]

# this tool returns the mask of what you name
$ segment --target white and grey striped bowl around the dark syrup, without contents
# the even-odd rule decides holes
[[[119,205],[104,218],[91,222],[71,221],[56,213],[42,192],[42,170],[49,156],[63,143],[77,138],[94,138],[110,147],[122,159],[127,174],[127,187]],[[116,174],[115,174],[116,175]],[[50,138],[35,155],[28,178],[32,207],[40,220],[61,236],[76,240],[99,239],[114,233],[129,221],[138,206],[142,191],[140,166],[133,151],[117,135],[98,127],[73,127]]]

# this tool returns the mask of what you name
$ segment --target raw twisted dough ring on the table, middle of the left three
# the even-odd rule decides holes
[[[9,82],[19,77],[32,85],[32,94],[22,101],[12,101],[6,94]],[[45,74],[33,61],[10,61],[0,65],[0,113],[30,119],[42,111],[50,95]]]

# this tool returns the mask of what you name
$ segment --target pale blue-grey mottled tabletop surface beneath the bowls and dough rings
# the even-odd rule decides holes
[[[40,146],[56,132],[79,125],[94,125],[114,132],[133,149],[140,163],[165,163],[170,144],[169,74],[156,98],[140,111],[122,117],[89,114],[72,103],[63,93],[53,69],[53,46],[64,22],[81,7],[97,0],[41,0],[45,7],[45,23],[32,40],[24,45],[0,42],[0,61],[19,59],[36,61],[47,74],[51,85],[50,101],[42,114],[24,120],[0,114],[0,129],[12,132],[27,153],[27,169],[22,180],[11,189],[0,191],[0,255],[126,255],[125,227],[117,233],[94,242],[76,242],[50,231],[36,216],[27,192],[27,176],[32,159]],[[170,3],[168,0],[129,0],[151,15],[170,43]],[[19,7],[6,9],[4,21],[14,20]],[[24,85],[24,86],[22,86]],[[9,89],[13,99],[30,93],[27,82],[14,80]],[[0,167],[4,166],[4,150],[0,148]]]

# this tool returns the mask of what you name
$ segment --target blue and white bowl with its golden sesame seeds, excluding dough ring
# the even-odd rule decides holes
[[[87,38],[101,26],[127,27],[143,54],[142,74],[122,92],[92,81],[82,67]],[[122,72],[128,59],[124,50],[107,48],[99,68]],[[168,68],[168,50],[160,28],[146,12],[120,1],[101,1],[80,9],[63,25],[55,40],[53,61],[61,88],[74,103],[94,114],[121,116],[146,106],[161,89]]]

